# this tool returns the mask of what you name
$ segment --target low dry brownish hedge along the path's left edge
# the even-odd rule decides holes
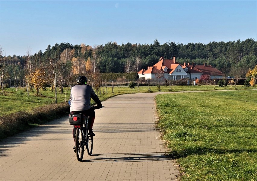
[[[0,117],[0,139],[13,136],[33,127],[33,124],[43,124],[60,116],[68,114],[68,103],[50,104],[33,109],[31,112],[19,111]]]

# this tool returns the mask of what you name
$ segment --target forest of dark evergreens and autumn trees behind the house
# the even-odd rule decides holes
[[[79,74],[90,75],[92,78],[97,78],[94,75],[99,73],[129,75],[130,72],[154,65],[161,56],[165,59],[172,59],[175,56],[176,61],[181,64],[194,62],[201,65],[206,62],[222,71],[225,76],[239,75],[240,78],[246,78],[247,71],[257,64],[257,43],[254,39],[185,45],[174,42],[161,45],[155,39],[150,45],[130,42],[118,45],[116,42],[109,42],[93,47],[84,43],[56,43],[35,54],[28,49],[26,56],[3,55],[1,47],[1,82],[7,79],[25,79],[27,75],[31,77],[30,75],[35,75],[36,72],[41,74],[41,77],[56,79],[59,84],[67,84],[68,80],[74,81]]]

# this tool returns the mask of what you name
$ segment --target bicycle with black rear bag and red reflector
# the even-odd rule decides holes
[[[92,108],[94,110],[100,109],[94,106]],[[69,122],[76,128],[75,152],[78,161],[81,161],[84,156],[85,147],[88,155],[92,155],[93,151],[93,136],[88,134],[88,116],[84,114],[70,114]]]

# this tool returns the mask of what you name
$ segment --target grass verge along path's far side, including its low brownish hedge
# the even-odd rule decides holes
[[[255,87],[244,86],[227,86],[218,87],[214,85],[205,86],[160,86],[160,91],[196,91],[196,90],[234,90],[234,89],[253,89]],[[107,100],[110,97],[120,94],[159,92],[157,86],[140,86],[130,89],[127,86],[101,87],[101,94],[98,92],[98,97],[101,101]],[[107,92],[106,92],[107,91]],[[53,120],[57,117],[68,114],[68,101],[70,90],[65,87],[63,93],[57,91],[57,105],[55,104],[54,92],[50,88],[41,91],[41,95],[36,95],[36,91],[30,91],[27,95],[25,88],[7,88],[4,92],[0,92],[0,139],[14,135],[21,131],[27,130],[35,124]],[[92,100],[91,104],[94,104]],[[58,107],[58,109],[56,108]],[[57,109],[57,110],[56,110]],[[57,113],[55,113],[57,112]],[[40,116],[37,116],[40,115]]]

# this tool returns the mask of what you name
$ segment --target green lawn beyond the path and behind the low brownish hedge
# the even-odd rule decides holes
[[[158,92],[157,86],[150,86],[149,87],[152,92]],[[231,90],[231,89],[253,89],[255,87],[245,87],[245,86],[226,86],[226,87],[218,87],[214,85],[206,85],[206,86],[160,86],[160,90],[162,92],[168,91],[196,91],[196,90]],[[101,87],[101,94],[98,93],[98,96],[101,101],[104,101],[110,97],[119,95],[119,94],[132,94],[132,93],[145,93],[148,92],[148,86],[140,86],[135,87],[134,89],[130,89],[127,86],[120,86],[120,87],[107,87],[107,94],[106,89],[104,87],[105,94],[102,94],[102,87]],[[57,90],[57,103],[68,101],[70,96],[69,88],[64,88],[63,94],[59,93]],[[0,92],[0,116],[15,113],[18,111],[31,111],[35,107],[40,107],[47,104],[55,103],[55,96],[54,91],[52,92],[50,88],[46,88],[46,90],[41,90],[41,95],[36,95],[36,91],[30,91],[30,95],[27,95],[25,88],[18,88],[16,91],[15,88],[6,88],[4,92]],[[92,100],[92,104],[94,101]]]

